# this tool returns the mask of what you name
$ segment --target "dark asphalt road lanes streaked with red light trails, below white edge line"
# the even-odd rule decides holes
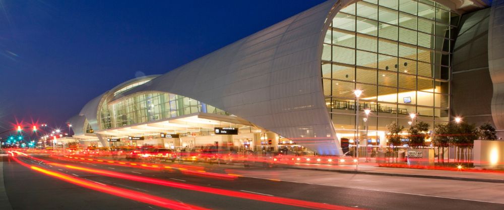
[[[287,197],[364,209],[504,209],[504,204],[490,202],[427,197],[248,177],[239,177],[235,180],[220,180],[187,175],[177,170],[148,170],[98,163],[63,161],[51,159],[47,156],[36,157],[61,164],[151,177],[182,184],[267,195],[271,199]],[[102,185],[134,190],[211,209],[304,209],[288,204],[229,197],[208,192],[108,177],[65,167],[49,166],[28,158],[19,158],[19,160],[46,170],[91,180]],[[7,195],[14,209],[161,209],[155,205],[117,197],[49,177],[21,166],[14,162],[12,158],[8,162],[4,162],[4,179]]]

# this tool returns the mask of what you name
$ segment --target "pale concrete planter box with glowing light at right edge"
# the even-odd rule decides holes
[[[474,166],[480,168],[504,168],[504,141],[475,140]]]

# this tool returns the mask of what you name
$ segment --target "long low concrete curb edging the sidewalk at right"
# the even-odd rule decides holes
[[[447,176],[414,175],[414,174],[393,174],[393,173],[383,173],[383,172],[366,172],[366,171],[351,171],[351,170],[338,170],[338,169],[314,169],[314,168],[302,168],[302,167],[286,167],[286,168],[287,169],[298,169],[298,170],[327,171],[327,172],[345,173],[345,174],[366,174],[366,175],[378,175],[378,176],[413,177],[413,178],[426,178],[426,179],[444,179],[444,180],[457,180],[457,181],[504,183],[504,179],[478,179],[478,178],[466,178],[466,177],[447,177]]]

